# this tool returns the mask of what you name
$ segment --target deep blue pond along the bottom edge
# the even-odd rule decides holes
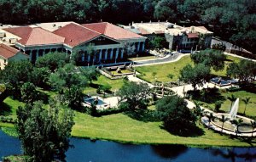
[[[256,148],[189,148],[183,145],[134,145],[72,137],[67,162],[244,162],[256,161]],[[0,131],[0,157],[21,154],[20,142]]]

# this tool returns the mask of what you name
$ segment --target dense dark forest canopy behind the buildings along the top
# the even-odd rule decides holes
[[[0,0],[0,20],[3,24],[103,20],[126,25],[169,20],[205,25],[217,36],[255,53],[255,8],[253,0]]]

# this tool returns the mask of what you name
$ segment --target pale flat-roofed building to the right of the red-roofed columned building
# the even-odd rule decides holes
[[[147,36],[148,39],[154,36],[164,36],[166,42],[169,42],[169,48],[173,50],[210,47],[213,35],[213,32],[208,31],[204,26],[184,27],[170,22],[132,23],[123,28]]]

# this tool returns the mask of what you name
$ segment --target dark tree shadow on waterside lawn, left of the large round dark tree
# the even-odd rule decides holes
[[[133,120],[139,120],[143,122],[160,121],[159,117],[155,114],[155,111],[150,109],[128,110],[125,111],[124,114]]]

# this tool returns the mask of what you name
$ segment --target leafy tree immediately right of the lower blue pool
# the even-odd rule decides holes
[[[125,81],[125,84],[119,89],[118,95],[121,102],[128,103],[129,109],[145,109],[144,100],[150,96],[150,88],[147,83]]]

